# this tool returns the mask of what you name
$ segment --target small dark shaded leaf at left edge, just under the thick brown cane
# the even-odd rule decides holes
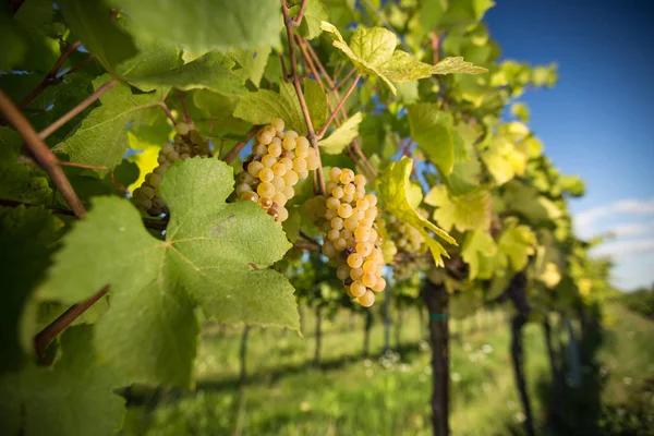
[[[0,126],[0,198],[43,204],[52,197],[48,177],[39,167],[19,164],[23,137]]]

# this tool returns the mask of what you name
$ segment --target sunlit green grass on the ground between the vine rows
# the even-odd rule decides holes
[[[603,401],[620,402],[654,377],[654,323],[619,306],[607,307],[608,331],[598,350]],[[363,319],[347,315],[324,323],[323,368],[314,353],[314,318],[304,338],[275,329],[249,336],[249,383],[238,385],[241,329],[208,326],[197,359],[194,393],[158,391],[130,409],[124,434],[148,435],[428,435],[429,350],[416,313],[404,315],[401,347],[382,358],[383,326],[361,355]],[[520,434],[523,419],[509,358],[509,328],[500,312],[452,325],[451,416],[453,435]],[[395,339],[391,336],[392,339]],[[541,433],[549,363],[537,325],[524,331],[525,371]],[[582,372],[591,368],[582,367]],[[146,398],[148,400],[148,398]],[[654,409],[654,403],[652,404]],[[652,413],[654,414],[654,412]],[[653,423],[654,424],[654,423]]]

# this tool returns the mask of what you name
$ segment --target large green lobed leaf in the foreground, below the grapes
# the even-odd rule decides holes
[[[97,324],[96,347],[133,380],[190,384],[197,306],[220,323],[296,329],[293,288],[263,267],[291,244],[257,204],[226,204],[232,186],[222,161],[173,164],[160,185],[171,210],[165,241],[145,230],[129,201],[97,197],[65,238],[39,296],[75,303],[109,283],[111,307]]]

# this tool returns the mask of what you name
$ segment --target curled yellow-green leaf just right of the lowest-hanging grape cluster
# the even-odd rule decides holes
[[[429,246],[434,262],[436,265],[443,266],[441,256],[449,257],[449,255],[443,245],[429,235],[428,231],[433,231],[440,239],[452,245],[457,245],[457,241],[445,230],[438,228],[428,219],[423,218],[409,204],[408,189],[411,183],[409,178],[412,166],[413,160],[408,157],[402,157],[400,160],[390,164],[377,177],[377,193],[388,211],[421,232]]]

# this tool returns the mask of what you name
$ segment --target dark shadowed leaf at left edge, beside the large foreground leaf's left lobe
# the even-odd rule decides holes
[[[61,222],[40,207],[0,207],[0,274],[5,283],[0,306],[0,374],[23,359],[19,323],[32,289],[50,265]]]

